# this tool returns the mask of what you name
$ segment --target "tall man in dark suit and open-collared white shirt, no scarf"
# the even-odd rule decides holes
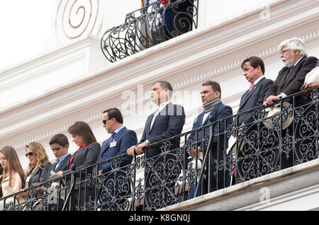
[[[181,170],[177,160],[180,138],[156,145],[156,142],[181,134],[185,123],[184,108],[174,105],[170,99],[173,88],[167,81],[152,85],[151,98],[158,105],[145,122],[142,138],[137,146],[131,146],[128,154],[142,154],[145,151],[145,209],[155,210],[176,203],[174,186]],[[151,144],[150,147],[147,147]],[[164,185],[163,185],[164,184]]]

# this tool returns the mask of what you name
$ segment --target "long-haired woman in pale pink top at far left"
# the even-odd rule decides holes
[[[18,192],[22,188],[24,172],[19,161],[16,150],[12,146],[5,146],[0,150],[0,161],[4,168],[1,189],[4,196],[11,195],[8,188],[13,192]]]

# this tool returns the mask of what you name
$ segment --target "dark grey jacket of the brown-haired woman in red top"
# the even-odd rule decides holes
[[[96,163],[96,159],[99,156],[101,146],[99,143],[91,143],[87,146],[82,147],[79,151],[74,154],[72,159],[72,164],[75,165],[75,171],[87,166],[91,166]],[[90,173],[92,168],[88,168],[87,172]],[[69,170],[69,164],[67,165],[67,170],[63,171],[63,175],[72,173],[72,170]]]

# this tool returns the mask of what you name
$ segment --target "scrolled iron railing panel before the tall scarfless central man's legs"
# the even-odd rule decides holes
[[[176,146],[175,136],[145,148],[143,209],[161,209],[186,200],[184,146]],[[147,151],[159,151],[156,156],[147,156]]]

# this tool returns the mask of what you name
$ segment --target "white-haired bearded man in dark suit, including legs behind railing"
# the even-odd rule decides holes
[[[307,57],[305,44],[298,37],[292,37],[281,42],[279,50],[280,57],[286,67],[279,71],[276,80],[267,91],[264,105],[274,105],[280,98],[298,93],[301,90],[301,86],[303,86],[306,74],[315,67],[318,61],[316,57]],[[309,100],[305,96],[298,95],[287,100],[297,110],[296,113],[299,112],[301,113],[301,117],[306,117],[307,114],[305,112],[307,110],[306,108],[303,109],[303,105],[309,103]],[[306,111],[303,112],[304,110]],[[293,127],[295,128],[293,129]],[[303,140],[308,134],[301,134],[301,132],[301,122],[291,122],[291,125],[286,130],[282,132],[278,131],[278,136],[286,143],[286,145],[281,146],[281,149],[279,149],[281,151],[279,156],[279,167],[281,169],[291,167],[294,163],[302,163],[305,161],[304,157],[309,155],[301,153],[301,149],[303,149],[301,144],[310,149],[307,146],[308,144]],[[295,142],[293,142],[293,136]]]

